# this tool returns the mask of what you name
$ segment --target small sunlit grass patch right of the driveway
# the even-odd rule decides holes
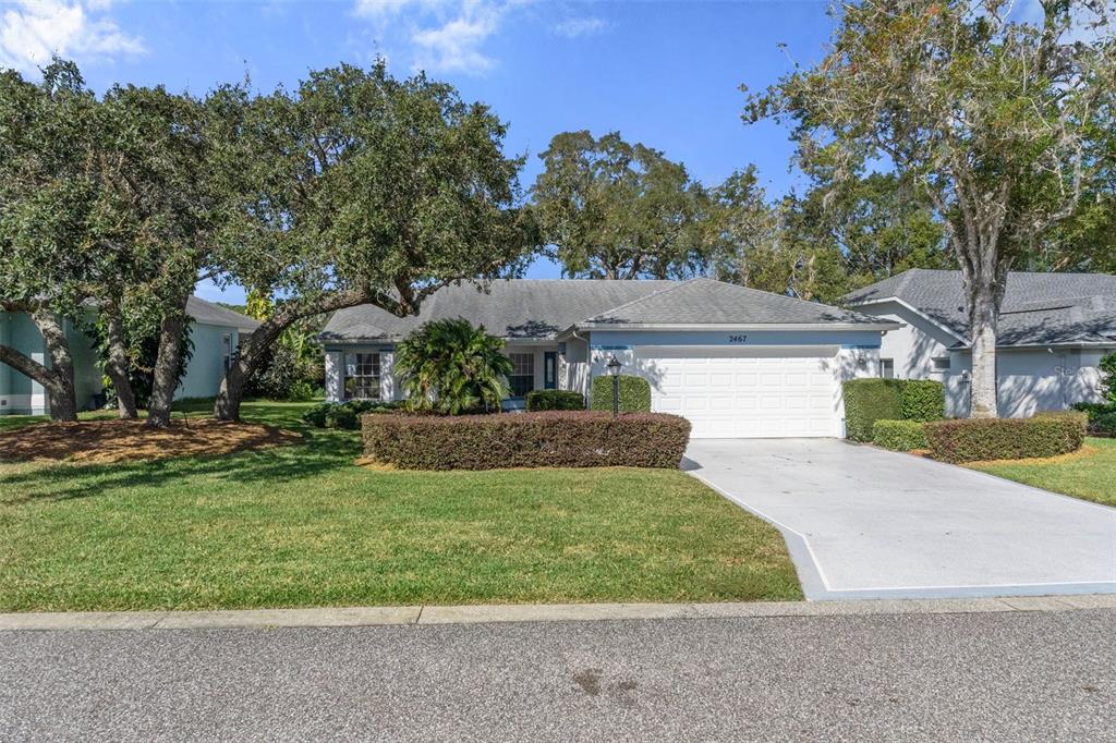
[[[1056,457],[977,464],[973,469],[1008,480],[1065,493],[1086,501],[1116,505],[1116,438],[1087,438],[1087,451]]]

